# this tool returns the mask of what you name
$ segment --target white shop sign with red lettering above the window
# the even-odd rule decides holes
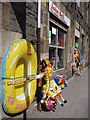
[[[49,11],[55,15],[58,19],[64,22],[67,26],[70,26],[70,19],[56,7],[51,1],[49,1]]]

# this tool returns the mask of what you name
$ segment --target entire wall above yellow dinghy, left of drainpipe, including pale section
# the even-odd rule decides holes
[[[37,42],[37,3],[0,3],[0,61],[16,38]],[[1,37],[2,35],[2,37]],[[35,47],[37,45],[35,44]],[[36,47],[37,49],[37,47]]]

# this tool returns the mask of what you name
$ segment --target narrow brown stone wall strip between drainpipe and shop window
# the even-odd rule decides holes
[[[49,13],[48,2],[41,7],[41,59],[49,58]]]

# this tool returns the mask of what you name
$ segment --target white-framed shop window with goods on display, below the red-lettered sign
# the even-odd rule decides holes
[[[65,33],[50,22],[49,28],[49,60],[53,70],[64,68]]]

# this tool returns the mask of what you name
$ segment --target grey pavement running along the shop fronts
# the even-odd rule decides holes
[[[88,118],[88,69],[90,67],[85,68],[81,76],[67,80],[68,87],[62,90],[67,104],[61,106],[58,103],[55,112],[39,112],[35,106],[36,101],[34,101],[26,111],[27,118]],[[3,113],[2,109],[0,109],[1,116],[6,119],[10,118]],[[23,114],[13,118],[23,118]]]

